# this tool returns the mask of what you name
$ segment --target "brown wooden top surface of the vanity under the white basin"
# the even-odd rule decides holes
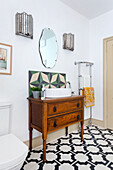
[[[40,102],[40,103],[75,100],[75,99],[80,99],[80,98],[84,98],[84,96],[83,95],[78,95],[78,96],[74,95],[74,96],[70,96],[70,97],[45,98],[44,100],[41,100],[41,98],[35,99],[35,98],[32,98],[32,97],[28,97],[29,100],[37,101],[37,102]]]

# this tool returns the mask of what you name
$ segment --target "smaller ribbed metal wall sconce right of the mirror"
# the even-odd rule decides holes
[[[63,49],[74,51],[74,34],[63,34]]]

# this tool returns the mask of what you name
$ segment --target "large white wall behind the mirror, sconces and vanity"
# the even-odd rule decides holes
[[[33,40],[15,35],[15,14],[23,11],[33,16]],[[58,41],[58,60],[53,69],[42,65],[38,52],[45,27],[55,32]],[[70,32],[75,35],[74,52],[62,49],[62,35]],[[89,21],[59,0],[3,0],[0,2],[0,42],[13,46],[12,75],[0,75],[0,101],[12,103],[11,132],[25,141],[28,139],[28,70],[64,72],[77,93],[74,61],[89,58]]]

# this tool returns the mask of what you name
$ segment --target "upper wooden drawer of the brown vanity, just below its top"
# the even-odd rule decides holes
[[[48,104],[48,115],[54,115],[56,113],[68,112],[70,110],[82,108],[82,99],[59,102],[59,103],[49,103]]]

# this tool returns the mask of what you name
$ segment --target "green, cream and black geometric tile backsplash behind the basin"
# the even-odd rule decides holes
[[[65,88],[66,74],[40,71],[29,71],[29,96],[32,96],[31,87]]]

